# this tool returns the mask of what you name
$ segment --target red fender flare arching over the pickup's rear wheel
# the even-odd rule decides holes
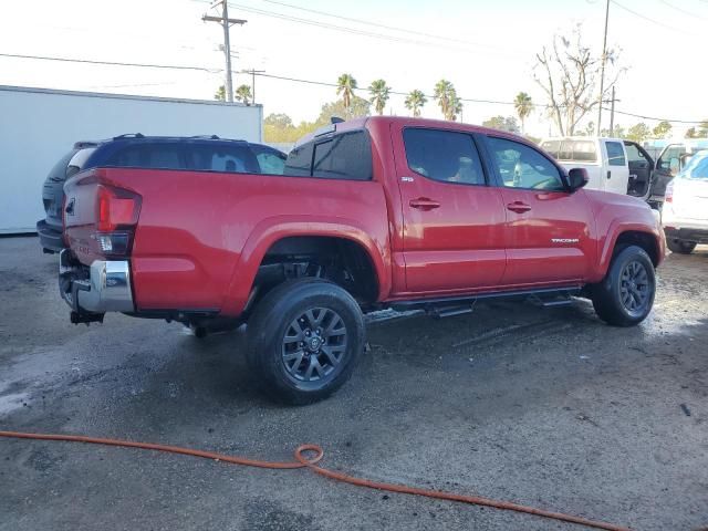
[[[268,250],[283,238],[299,236],[344,238],[360,244],[372,261],[374,274],[378,281],[377,300],[381,301],[391,293],[391,257],[388,256],[387,232],[384,241],[377,241],[358,222],[348,218],[317,217],[308,219],[302,216],[273,216],[260,221],[246,240],[231,273],[229,288],[223,294],[221,304],[223,314],[238,315],[243,311],[258,268]]]

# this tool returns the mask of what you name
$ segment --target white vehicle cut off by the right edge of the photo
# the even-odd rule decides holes
[[[708,149],[690,157],[666,187],[662,225],[673,252],[689,254],[708,243]]]

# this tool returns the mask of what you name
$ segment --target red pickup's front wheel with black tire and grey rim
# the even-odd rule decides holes
[[[644,321],[652,311],[655,294],[654,264],[637,246],[616,252],[605,279],[592,287],[595,313],[613,326],[634,326]]]

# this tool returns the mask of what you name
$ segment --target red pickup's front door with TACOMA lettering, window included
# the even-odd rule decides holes
[[[486,142],[507,210],[503,284],[581,282],[596,253],[583,190],[568,191],[559,166],[535,148],[493,136]]]

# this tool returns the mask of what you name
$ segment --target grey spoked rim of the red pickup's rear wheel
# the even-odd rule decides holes
[[[288,376],[322,385],[337,373],[346,352],[346,326],[334,310],[312,308],[294,319],[282,342]]]

